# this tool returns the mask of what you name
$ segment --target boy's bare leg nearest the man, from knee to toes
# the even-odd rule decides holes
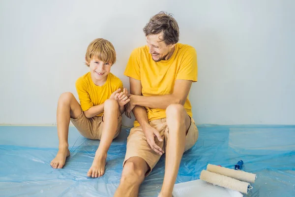
[[[107,153],[118,128],[119,115],[118,101],[115,99],[107,99],[104,102],[103,128],[100,143],[87,176],[96,178],[104,174]]]

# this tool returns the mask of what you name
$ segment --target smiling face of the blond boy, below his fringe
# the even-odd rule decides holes
[[[108,77],[108,74],[111,71],[111,64],[107,62],[103,62],[98,59],[92,59],[89,64],[90,73],[92,77],[97,80],[104,80]]]

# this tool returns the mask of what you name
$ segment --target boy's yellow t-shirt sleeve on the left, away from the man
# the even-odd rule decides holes
[[[93,106],[90,96],[87,92],[87,84],[83,79],[78,79],[76,81],[76,89],[80,100],[80,105],[83,111],[89,110]]]

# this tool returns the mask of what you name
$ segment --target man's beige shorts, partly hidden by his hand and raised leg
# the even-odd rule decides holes
[[[149,125],[159,131],[162,137],[164,136],[164,141],[159,141],[157,137],[155,137],[155,143],[160,148],[165,150],[167,139],[169,136],[166,118],[150,121]],[[191,125],[187,131],[185,138],[184,152],[190,149],[196,143],[198,137],[199,131],[197,129],[197,126],[195,125],[194,119],[191,118]],[[140,157],[147,162],[150,170],[148,170],[146,176],[148,176],[152,168],[161,158],[161,155],[155,153],[148,145],[147,138],[141,127],[134,127],[130,130],[130,134],[127,138],[127,150],[123,165],[131,157]]]

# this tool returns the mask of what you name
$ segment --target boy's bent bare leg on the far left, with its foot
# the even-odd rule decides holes
[[[81,106],[72,93],[63,93],[60,95],[57,110],[59,152],[50,163],[53,168],[62,168],[65,164],[66,157],[70,155],[68,149],[70,118],[78,118],[81,113]]]

